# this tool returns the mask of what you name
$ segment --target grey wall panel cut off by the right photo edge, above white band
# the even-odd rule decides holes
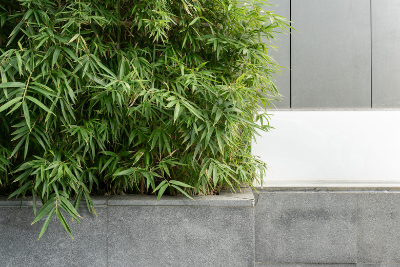
[[[400,107],[400,1],[372,0],[372,106]]]

